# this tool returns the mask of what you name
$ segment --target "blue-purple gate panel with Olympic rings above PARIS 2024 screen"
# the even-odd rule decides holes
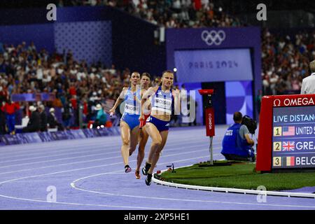
[[[262,88],[260,33],[260,27],[167,29],[167,69],[176,68],[176,82],[185,84],[252,82],[255,99]]]

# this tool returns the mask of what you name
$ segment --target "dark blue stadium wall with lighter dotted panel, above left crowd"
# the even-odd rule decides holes
[[[45,8],[0,10],[0,42],[34,41],[38,49],[71,49],[76,59],[115,64],[118,69],[159,74],[166,67],[165,48],[155,45],[151,23],[109,6],[57,8],[57,21]]]

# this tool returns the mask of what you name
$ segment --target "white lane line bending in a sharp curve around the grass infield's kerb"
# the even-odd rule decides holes
[[[188,161],[188,160],[200,159],[200,158],[205,158],[205,157],[208,157],[208,155],[207,156],[202,156],[202,157],[199,157],[199,158],[190,158],[190,159],[187,159],[187,160],[176,160],[174,162],[184,162],[184,161]],[[169,162],[160,163],[158,165],[165,165],[165,164],[169,164]],[[118,173],[118,172],[119,171],[112,172],[112,173]],[[150,199],[150,200],[167,200],[167,201],[179,201],[179,202],[204,202],[204,203],[216,203],[216,204],[242,204],[242,205],[271,206],[271,207],[315,208],[315,206],[306,206],[306,205],[304,206],[304,205],[294,205],[294,204],[265,204],[265,203],[249,203],[249,202],[220,202],[220,201],[212,201],[212,200],[188,200],[188,199],[179,199],[179,198],[170,198],[170,197],[147,197],[147,196],[139,196],[139,195],[123,195],[123,194],[119,194],[119,193],[104,193],[104,192],[99,192],[99,191],[94,191],[94,190],[86,190],[84,188],[78,188],[76,186],[76,183],[78,181],[82,181],[84,179],[89,179],[91,177],[101,176],[101,175],[106,175],[106,174],[108,174],[108,173],[93,174],[93,175],[90,175],[90,176],[85,176],[85,177],[82,177],[80,179],[76,179],[75,181],[71,182],[70,186],[72,188],[77,189],[77,190],[85,191],[87,193],[95,193],[95,194],[100,194],[100,195],[111,195],[111,196],[118,196],[118,197],[144,198],[144,199]]]

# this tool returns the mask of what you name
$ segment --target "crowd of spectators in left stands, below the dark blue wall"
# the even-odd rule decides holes
[[[95,120],[97,105],[109,111],[123,86],[129,85],[130,70],[119,71],[112,65],[91,64],[73,59],[71,51],[52,55],[37,50],[34,43],[27,46],[0,43],[0,104],[1,112],[13,114],[22,109],[22,117],[29,112],[29,105],[36,109],[59,109],[65,128],[78,127],[78,107],[83,106],[83,122]],[[53,93],[50,101],[22,102],[20,107],[7,109],[12,94]],[[13,104],[15,104],[13,102]],[[119,114],[119,113],[118,113]],[[2,119],[1,119],[2,120]],[[9,125],[8,125],[9,126]],[[55,126],[55,125],[54,125]]]

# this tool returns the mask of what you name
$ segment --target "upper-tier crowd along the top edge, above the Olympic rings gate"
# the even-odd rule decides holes
[[[165,28],[241,26],[214,0],[60,0],[58,6],[112,6]]]

